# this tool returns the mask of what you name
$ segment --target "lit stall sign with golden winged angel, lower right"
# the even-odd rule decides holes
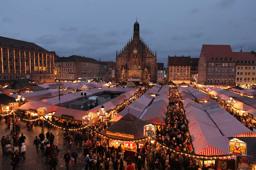
[[[233,138],[228,142],[230,154],[246,156],[247,144],[237,138]]]

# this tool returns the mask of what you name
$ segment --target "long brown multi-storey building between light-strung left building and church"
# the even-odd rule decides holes
[[[56,81],[104,80],[107,64],[92,58],[72,55],[55,59]]]

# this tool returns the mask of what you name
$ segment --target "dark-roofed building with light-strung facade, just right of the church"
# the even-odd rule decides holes
[[[190,84],[190,56],[168,56],[167,82],[169,81],[175,84],[182,82]]]

